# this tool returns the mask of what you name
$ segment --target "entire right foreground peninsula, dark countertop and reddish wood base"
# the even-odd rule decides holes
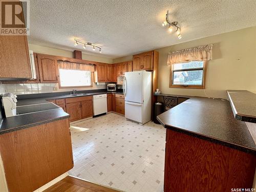
[[[165,192],[253,188],[256,145],[227,100],[191,97],[157,118],[166,128]]]

